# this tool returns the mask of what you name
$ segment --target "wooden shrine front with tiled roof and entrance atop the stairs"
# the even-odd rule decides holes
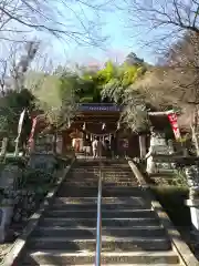
[[[97,137],[103,156],[139,156],[138,136],[119,123],[121,108],[114,104],[82,104],[65,131],[63,145],[72,146],[76,155],[92,156],[92,142]],[[64,137],[63,137],[64,139]]]

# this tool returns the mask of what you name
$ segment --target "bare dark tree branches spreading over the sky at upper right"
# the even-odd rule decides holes
[[[153,45],[157,51],[165,50],[185,32],[199,33],[198,0],[125,0],[124,10],[128,10],[128,21],[140,27],[143,43]]]

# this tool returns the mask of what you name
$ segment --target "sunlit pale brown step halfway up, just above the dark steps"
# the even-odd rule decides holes
[[[96,204],[97,197],[55,197],[54,204]],[[130,204],[145,205],[148,203],[144,197],[103,197],[102,204]]]

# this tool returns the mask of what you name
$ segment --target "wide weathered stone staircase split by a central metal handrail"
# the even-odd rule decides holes
[[[97,162],[71,170],[28,241],[19,265],[94,265]],[[102,265],[179,266],[150,202],[125,163],[104,163]]]

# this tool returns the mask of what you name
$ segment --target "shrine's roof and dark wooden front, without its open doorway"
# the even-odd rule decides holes
[[[63,153],[71,149],[73,139],[92,141],[98,136],[103,141],[114,136],[118,155],[139,156],[138,135],[119,124],[121,112],[122,108],[112,103],[80,104],[71,125],[61,129]]]

